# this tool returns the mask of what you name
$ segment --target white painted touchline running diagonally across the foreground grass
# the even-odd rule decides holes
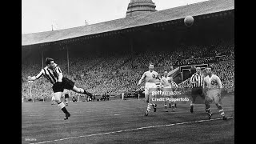
[[[228,118],[234,118],[234,117],[228,117]],[[206,120],[199,120],[199,121],[194,121],[194,122],[180,122],[180,123],[172,123],[172,124],[158,125],[158,126],[146,126],[146,127],[135,128],[135,129],[118,130],[118,131],[112,131],[112,132],[107,132],[107,133],[99,133],[99,134],[89,134],[89,135],[82,135],[82,136],[78,136],[78,137],[61,138],[61,139],[55,139],[55,140],[51,140],[51,141],[36,142],[36,143],[30,143],[30,144],[39,144],[39,143],[47,143],[47,142],[58,142],[58,141],[74,139],[74,138],[86,138],[86,137],[91,137],[91,136],[96,136],[96,135],[114,134],[114,133],[121,133],[121,132],[125,132],[125,131],[142,130],[142,129],[149,129],[149,128],[154,128],[154,127],[162,127],[162,126],[175,126],[175,125],[183,125],[183,124],[188,124],[188,123],[207,122],[207,121],[214,121],[214,120],[218,120],[218,119],[222,119],[222,118],[206,119]]]

